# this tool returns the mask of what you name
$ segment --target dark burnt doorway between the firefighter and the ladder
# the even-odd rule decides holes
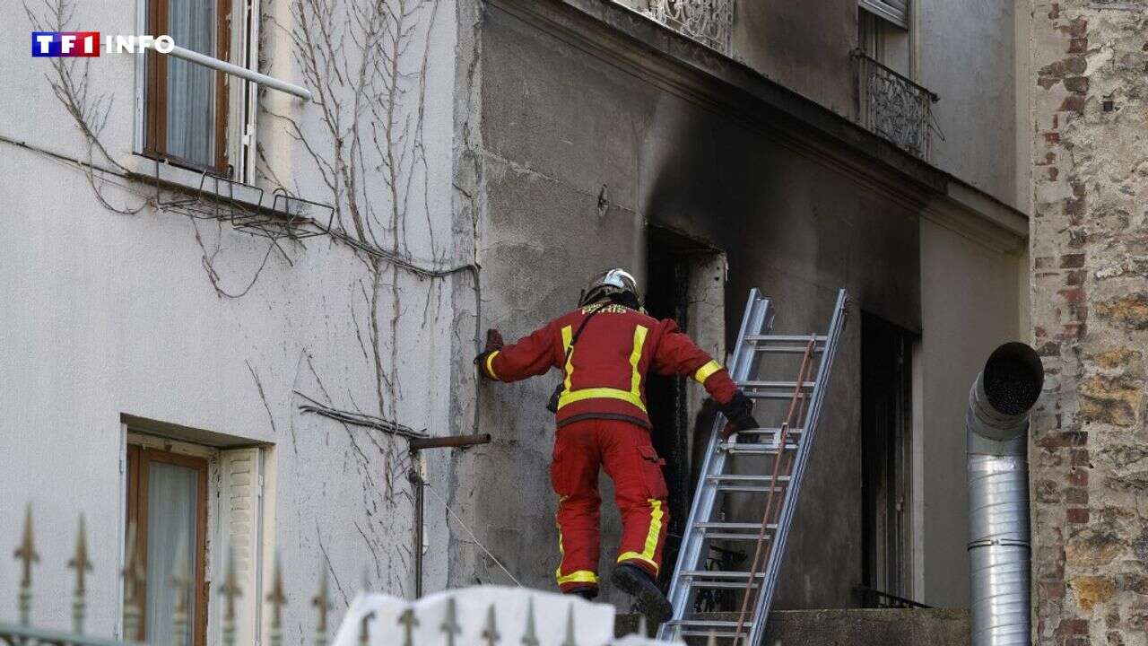
[[[714,266],[721,252],[668,229],[650,228],[646,249],[646,312],[656,318],[673,318],[680,330],[698,340],[700,332],[721,337],[721,330],[705,330],[712,321],[721,321],[721,297],[716,316],[712,301],[714,290],[721,294],[724,277],[715,276]],[[723,262],[721,263],[723,266]],[[718,283],[716,286],[714,283]],[[705,291],[706,293],[696,293]],[[706,308],[699,315],[698,308]],[[719,361],[724,357],[719,356]],[[692,501],[692,455],[696,447],[693,425],[698,393],[687,377],[650,374],[646,400],[654,449],[666,460],[664,475],[669,489],[669,528],[664,553],[662,583],[667,582],[677,559],[682,530]],[[691,406],[692,402],[692,406]]]

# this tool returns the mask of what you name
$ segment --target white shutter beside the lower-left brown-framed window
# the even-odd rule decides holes
[[[258,644],[261,564],[263,563],[263,455],[258,448],[234,448],[219,452],[220,521],[225,537],[225,552],[220,554],[220,576],[226,571],[226,549],[235,555],[235,579],[242,597],[235,602],[235,644]],[[220,578],[218,584],[222,584]],[[218,584],[216,587],[218,587]],[[223,603],[218,603],[222,610]],[[222,617],[223,615],[218,615]]]

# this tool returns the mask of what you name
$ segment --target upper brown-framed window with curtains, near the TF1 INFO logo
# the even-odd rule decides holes
[[[148,33],[227,60],[228,0],[146,0]],[[201,170],[230,175],[226,75],[149,52],[144,152]]]

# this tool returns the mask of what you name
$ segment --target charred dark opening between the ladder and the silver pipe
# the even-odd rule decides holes
[[[901,598],[912,592],[913,341],[862,313],[862,572],[869,589]]]

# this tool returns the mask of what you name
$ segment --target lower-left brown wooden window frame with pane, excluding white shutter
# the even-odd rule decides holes
[[[135,553],[144,570],[140,635],[149,644],[174,644],[172,615],[179,602],[172,585],[177,560],[186,559],[188,631],[186,646],[207,639],[208,461],[130,444],[127,520],[135,525]]]

